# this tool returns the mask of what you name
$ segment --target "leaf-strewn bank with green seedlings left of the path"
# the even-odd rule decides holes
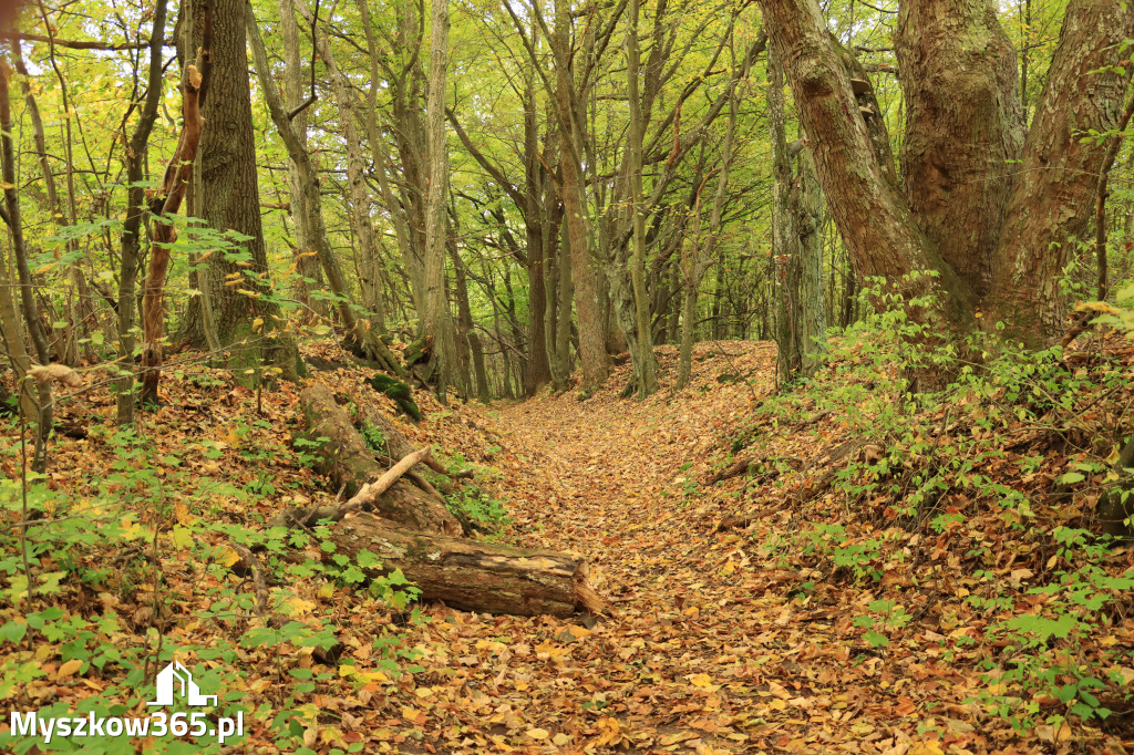
[[[336,345],[305,349],[318,365],[310,380],[381,413],[412,443],[443,449],[450,468],[475,470],[452,503],[499,524],[502,449],[479,415],[418,393],[425,421],[413,423]],[[146,715],[155,672],[176,659],[220,695],[211,715],[243,714],[245,736],[226,746],[361,750],[335,701],[381,710],[412,694],[420,667],[404,627],[420,614],[396,576],[370,580],[357,563],[324,559],[320,527],[266,526],[287,507],[336,499],[311,468],[302,385],[237,387],[187,353],[167,366],[164,404],[119,429],[109,378],[79,372],[83,387],[57,396],[45,475],[25,483],[18,422],[0,432],[0,701],[41,715]],[[12,738],[7,723],[6,752],[45,746]],[[221,748],[208,737],[121,737],[57,738],[49,749],[100,747]]]

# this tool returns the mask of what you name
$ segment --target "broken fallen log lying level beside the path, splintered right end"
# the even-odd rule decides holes
[[[332,555],[356,559],[370,551],[382,560],[370,577],[400,569],[421,588],[421,600],[464,611],[567,617],[602,611],[587,583],[586,562],[555,551],[407,532],[370,514],[350,515],[331,528]]]

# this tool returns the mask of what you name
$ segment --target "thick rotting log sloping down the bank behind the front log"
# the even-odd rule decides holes
[[[350,423],[350,417],[336,402],[325,385],[312,385],[299,395],[299,406],[307,421],[312,440],[325,438],[315,452],[320,457],[316,469],[330,475],[346,497],[353,498],[367,483],[380,478],[388,469],[367,448],[362,435]],[[435,495],[421,490],[401,477],[379,495],[372,510],[382,517],[423,533],[459,535],[460,521]]]

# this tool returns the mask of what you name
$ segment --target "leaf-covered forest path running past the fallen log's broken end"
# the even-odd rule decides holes
[[[801,620],[779,587],[797,575],[762,563],[760,543],[714,533],[742,503],[736,486],[726,493],[705,481],[771,389],[775,347],[701,345],[680,393],[666,387],[676,351],[660,357],[662,390],[643,402],[617,398],[624,366],[585,401],[569,392],[488,412],[519,467],[509,480],[524,481],[508,491],[516,529],[530,533],[522,542],[583,553],[611,601],[610,617],[578,630],[577,643],[540,646],[552,663],[531,688],[562,687],[565,664],[584,662],[582,685],[569,684],[574,694],[556,704],[583,705],[582,720],[561,730],[594,752],[618,743],[632,752],[820,752],[869,733],[864,693],[838,689],[847,651],[827,642],[830,617],[806,610]],[[564,638],[573,639],[555,636]],[[560,652],[569,660],[556,662]]]

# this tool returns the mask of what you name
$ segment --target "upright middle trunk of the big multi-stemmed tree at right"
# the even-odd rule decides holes
[[[900,8],[894,43],[906,107],[903,188],[941,258],[983,296],[1010,161],[1024,144],[1016,52],[989,0]]]

